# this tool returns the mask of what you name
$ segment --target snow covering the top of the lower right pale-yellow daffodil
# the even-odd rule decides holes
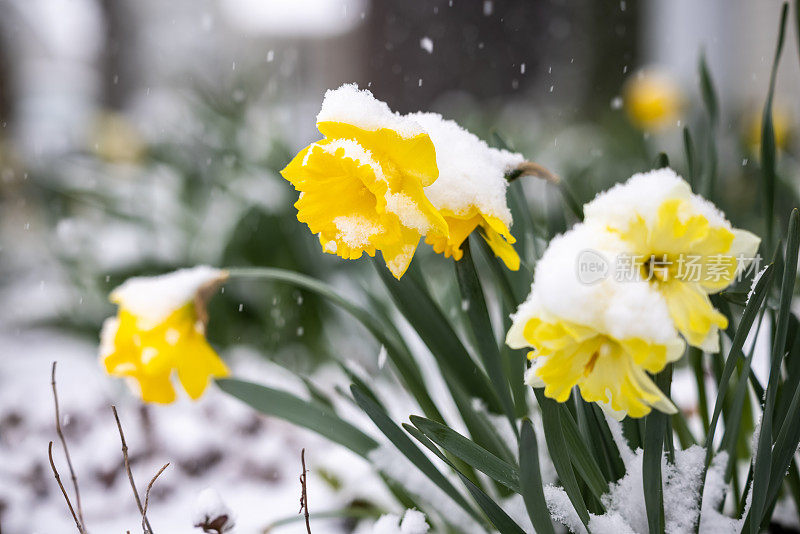
[[[571,321],[617,339],[674,340],[677,334],[658,291],[649,284],[615,279],[619,250],[613,234],[585,224],[554,238],[536,266],[528,299],[512,316],[509,345],[528,345],[523,329],[530,317]],[[587,262],[605,264],[607,274],[591,283],[582,281],[579,269]]]

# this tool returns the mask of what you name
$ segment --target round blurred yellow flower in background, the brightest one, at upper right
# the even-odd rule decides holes
[[[645,131],[675,126],[683,111],[683,91],[669,74],[652,69],[637,72],[625,82],[625,111]]]

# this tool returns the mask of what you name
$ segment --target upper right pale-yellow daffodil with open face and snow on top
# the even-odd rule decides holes
[[[587,224],[620,238],[635,277],[665,298],[687,342],[716,352],[718,331],[728,323],[708,295],[729,286],[755,258],[759,238],[732,228],[671,169],[634,175],[599,194],[584,212]]]

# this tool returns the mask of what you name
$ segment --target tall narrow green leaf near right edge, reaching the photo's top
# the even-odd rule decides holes
[[[775,58],[772,61],[772,71],[769,76],[769,90],[764,103],[764,112],[761,118],[761,172],[764,185],[764,221],[766,228],[766,245],[771,249],[774,245],[774,214],[775,214],[775,127],[772,123],[772,99],[775,94],[775,80],[778,76],[778,64],[783,51],[783,38],[786,30],[786,16],[789,4],[783,4],[781,22],[778,30],[778,44],[775,47]]]

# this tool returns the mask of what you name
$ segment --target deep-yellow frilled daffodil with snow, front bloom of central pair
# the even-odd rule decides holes
[[[323,251],[356,259],[379,250],[400,278],[421,236],[449,235],[423,190],[438,176],[430,137],[355,85],[326,93],[317,128],[325,139],[281,171],[300,191],[297,219]]]

